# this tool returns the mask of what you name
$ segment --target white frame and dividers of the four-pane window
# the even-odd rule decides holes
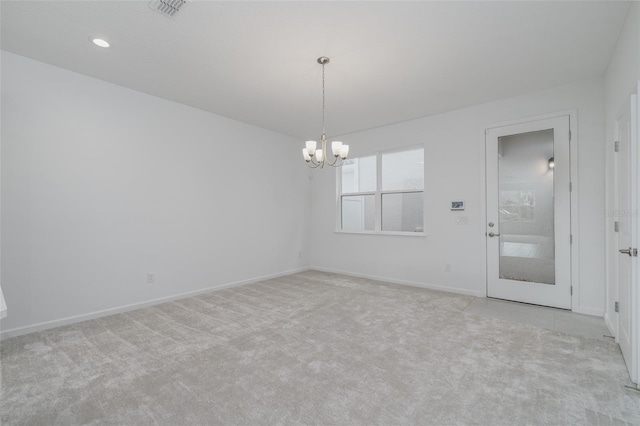
[[[424,144],[418,145],[410,145],[404,146],[401,148],[393,148],[384,151],[376,151],[370,154],[360,155],[355,158],[363,158],[363,157],[376,157],[376,190],[375,191],[366,191],[366,192],[347,192],[342,193],[342,168],[336,169],[336,229],[335,232],[339,234],[363,234],[363,235],[395,235],[395,236],[403,236],[403,237],[425,237],[427,234],[424,232],[424,224],[426,223],[426,218],[424,217],[426,211],[426,197],[424,197],[425,193],[425,184],[424,184],[424,175],[422,174],[422,189],[401,189],[401,190],[392,190],[392,191],[383,191],[382,190],[382,155],[389,154],[393,152],[402,152],[402,151],[411,151],[414,149],[422,148],[422,154],[424,156]],[[424,158],[423,158],[423,166],[424,166]],[[422,232],[408,232],[408,231],[383,231],[382,230],[382,196],[386,194],[408,194],[408,193],[417,193],[422,192],[423,194],[423,205],[422,205]],[[343,196],[358,196],[358,195],[373,195],[374,196],[374,206],[375,206],[375,223],[373,230],[364,230],[364,231],[351,231],[351,230],[343,230],[342,229],[342,197]]]

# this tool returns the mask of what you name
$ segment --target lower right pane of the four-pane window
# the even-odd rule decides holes
[[[424,193],[382,194],[382,230],[423,231]]]

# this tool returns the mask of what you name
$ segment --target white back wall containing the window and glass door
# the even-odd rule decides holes
[[[335,233],[335,173],[314,173],[312,266],[485,295],[484,130],[493,124],[547,113],[578,111],[579,276],[574,310],[604,310],[604,90],[601,80],[532,93],[446,114],[342,135],[350,156],[424,144],[427,237]],[[380,100],[384,102],[384,100]],[[465,200],[464,212],[450,202]],[[455,223],[468,216],[467,225]],[[452,272],[444,272],[451,264]]]

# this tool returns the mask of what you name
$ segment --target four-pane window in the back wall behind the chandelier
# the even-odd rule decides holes
[[[338,229],[423,232],[424,148],[347,159],[338,173]]]

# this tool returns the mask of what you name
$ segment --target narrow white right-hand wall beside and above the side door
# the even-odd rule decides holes
[[[627,20],[613,52],[605,76],[605,124],[607,161],[607,210],[613,214],[607,217],[607,305],[605,321],[611,332],[617,334],[617,319],[613,308],[617,300],[617,240],[613,232],[615,215],[614,151],[616,140],[616,120],[629,103],[629,95],[634,93],[640,80],[640,3],[633,2]]]

